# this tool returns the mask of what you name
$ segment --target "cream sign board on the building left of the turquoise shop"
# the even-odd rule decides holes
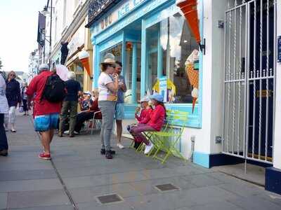
[[[77,51],[77,48],[83,45],[85,42],[85,27],[81,25],[79,29],[72,36],[70,43],[68,44],[68,55],[72,55]]]

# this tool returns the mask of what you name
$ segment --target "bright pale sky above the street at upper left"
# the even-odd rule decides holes
[[[0,0],[0,57],[4,71],[28,71],[37,48],[38,12],[47,0]]]

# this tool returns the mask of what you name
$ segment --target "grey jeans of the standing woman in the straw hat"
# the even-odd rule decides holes
[[[112,101],[99,101],[98,106],[100,107],[101,114],[103,116],[100,137],[101,137],[101,148],[105,148],[106,151],[110,151],[110,137],[112,133],[112,127],[115,116],[115,105],[116,102]]]

